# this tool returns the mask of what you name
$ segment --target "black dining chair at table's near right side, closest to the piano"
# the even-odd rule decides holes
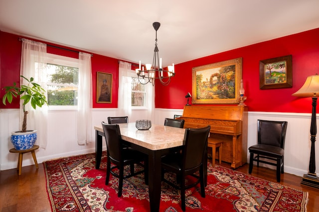
[[[207,152],[207,139],[210,126],[195,129],[185,129],[182,151],[169,154],[161,159],[162,180],[180,190],[181,209],[185,211],[185,190],[200,183],[201,197],[205,198],[204,157]],[[199,176],[194,173],[199,171]],[[176,183],[164,178],[165,172],[176,174]],[[192,176],[196,182],[185,185],[185,177]],[[179,185],[178,185],[179,183]]]

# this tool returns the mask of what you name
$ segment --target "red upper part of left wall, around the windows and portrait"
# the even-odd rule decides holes
[[[41,41],[40,41],[41,42]],[[50,43],[47,43],[50,44]],[[58,46],[56,44],[51,44]],[[0,31],[0,88],[4,86],[11,86],[13,82],[19,84],[19,75],[20,75],[20,62],[21,62],[21,46],[22,42],[19,41],[19,36],[1,32]],[[58,46],[71,49],[64,46]],[[72,58],[79,58],[77,52],[67,51],[63,49],[58,49],[54,47],[47,46],[47,52],[52,54],[63,55]],[[98,54],[93,54],[91,58],[92,63],[92,84],[93,84],[93,107],[103,108],[111,107],[116,108],[118,106],[118,70],[119,63],[118,59],[101,56]],[[113,76],[112,82],[112,103],[96,103],[96,77],[97,72],[110,73]],[[19,108],[18,99],[14,99],[12,104],[2,104],[2,97],[4,91],[0,90],[0,108]]]

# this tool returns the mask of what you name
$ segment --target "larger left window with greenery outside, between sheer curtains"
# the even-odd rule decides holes
[[[48,105],[76,106],[78,99],[78,76],[77,59],[48,54]]]

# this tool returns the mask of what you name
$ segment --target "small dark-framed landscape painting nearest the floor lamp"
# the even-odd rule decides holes
[[[292,56],[276,57],[259,62],[260,89],[293,87]]]

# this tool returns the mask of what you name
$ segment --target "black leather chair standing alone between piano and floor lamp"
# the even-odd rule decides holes
[[[287,124],[287,121],[257,120],[258,143],[248,148],[250,152],[249,174],[253,171],[254,161],[257,161],[257,167],[259,163],[266,163],[277,166],[277,182],[280,182],[280,175],[284,173]],[[268,159],[268,161],[260,160],[260,158]],[[271,161],[276,161],[276,163]]]

